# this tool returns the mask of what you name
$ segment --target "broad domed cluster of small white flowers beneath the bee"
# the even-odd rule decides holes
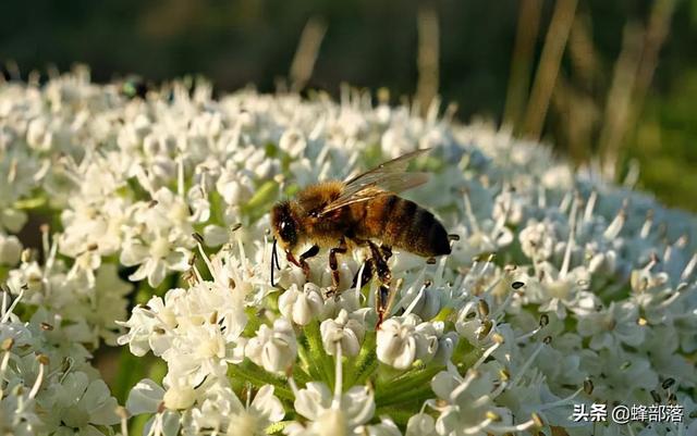
[[[0,86],[4,433],[697,434],[693,215],[437,104],[132,97],[83,70]],[[320,252],[271,285],[276,201],[419,148],[404,196],[452,254],[393,247],[386,289],[360,249],[334,288]],[[115,345],[145,368],[124,408],[90,365]],[[657,402],[682,422],[572,419]]]

